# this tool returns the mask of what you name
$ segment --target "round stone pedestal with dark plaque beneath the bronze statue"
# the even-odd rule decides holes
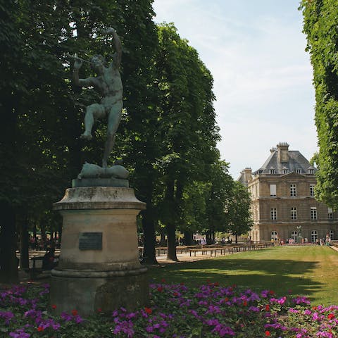
[[[144,208],[127,187],[70,188],[54,204],[63,216],[61,255],[51,271],[50,302],[57,314],[76,309],[86,316],[148,303],[136,227]]]

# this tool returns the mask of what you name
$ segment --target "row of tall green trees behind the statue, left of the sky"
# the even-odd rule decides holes
[[[111,161],[123,158],[130,184],[147,204],[140,220],[146,261],[155,263],[155,233],[245,233],[249,195],[227,173],[216,144],[213,78],[172,24],[156,26],[151,0],[0,0],[1,133],[0,275],[16,277],[16,231],[60,230],[51,213],[84,161],[101,163],[105,123],[90,144],[79,139],[82,107],[97,99],[73,87],[68,54],[109,58],[103,27],[123,42],[125,112]],[[85,65],[86,74],[92,70]],[[27,241],[26,241],[27,242]],[[27,255],[22,251],[23,264]]]

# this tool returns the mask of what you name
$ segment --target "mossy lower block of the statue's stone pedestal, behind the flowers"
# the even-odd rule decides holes
[[[115,309],[136,308],[149,304],[149,282],[146,274],[110,278],[51,277],[51,305],[55,313],[71,313],[87,317],[102,311],[111,314]]]

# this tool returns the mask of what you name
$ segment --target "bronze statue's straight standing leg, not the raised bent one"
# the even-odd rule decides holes
[[[118,125],[120,124],[122,107],[122,101],[116,102],[108,115],[107,140],[104,147],[104,158],[102,159],[102,166],[104,168],[107,167],[108,157],[115,144],[115,133],[116,130],[118,130]]]

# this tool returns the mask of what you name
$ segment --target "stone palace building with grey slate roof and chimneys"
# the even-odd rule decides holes
[[[289,144],[277,144],[261,168],[239,176],[251,193],[253,241],[338,239],[338,213],[315,200],[316,169]]]

